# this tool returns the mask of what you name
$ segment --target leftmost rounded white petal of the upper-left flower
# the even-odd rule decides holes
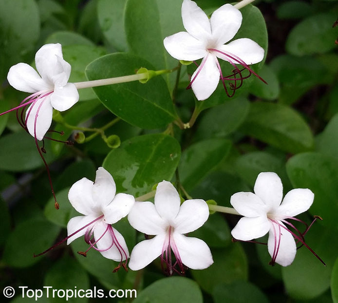
[[[26,64],[18,63],[9,69],[7,80],[10,85],[21,92],[36,93],[39,91],[52,90],[38,75],[36,70]]]

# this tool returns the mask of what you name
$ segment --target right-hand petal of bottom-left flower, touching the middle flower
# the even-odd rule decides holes
[[[102,208],[104,221],[108,224],[116,223],[129,214],[134,203],[132,195],[118,193],[110,204]]]

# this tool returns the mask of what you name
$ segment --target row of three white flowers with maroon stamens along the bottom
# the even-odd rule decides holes
[[[314,198],[312,191],[293,189],[282,201],[282,182],[274,172],[260,173],[254,191],[255,193],[238,192],[231,196],[231,205],[244,216],[232,229],[233,237],[249,241],[269,232],[267,246],[272,257],[271,265],[278,263],[287,266],[293,262],[296,255],[294,239],[314,253],[304,240],[309,227],[301,233],[286,221],[293,219],[304,223],[294,216],[311,206]],[[84,235],[89,247],[78,253],[86,257],[87,252],[94,248],[105,258],[119,262],[113,272],[121,266],[128,270],[128,259],[129,268],[139,270],[160,257],[162,270],[169,276],[174,273],[184,275],[187,268],[205,269],[213,264],[207,244],[198,238],[186,236],[207,221],[207,203],[202,199],[189,199],[181,204],[180,195],[168,181],[164,180],[157,185],[154,203],[139,202],[130,194],[116,194],[113,177],[100,167],[96,171],[94,182],[87,178],[77,181],[69,190],[68,198],[83,216],[70,219],[67,225],[68,236],[36,256],[50,251],[62,242],[67,241],[68,245]],[[131,255],[123,235],[112,226],[127,215],[131,227],[147,237],[133,247]],[[296,231],[291,231],[286,226]],[[324,264],[320,258],[319,260]]]

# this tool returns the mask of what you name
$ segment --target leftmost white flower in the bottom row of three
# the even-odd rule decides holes
[[[115,195],[115,192],[113,177],[102,167],[96,170],[94,183],[82,178],[73,184],[68,194],[69,201],[84,216],[74,217],[68,222],[67,245],[85,235],[90,246],[80,254],[86,256],[87,251],[94,248],[105,258],[119,261],[121,265],[129,258],[129,251],[123,236],[111,224],[127,216],[135,199],[125,193]],[[126,264],[122,266],[126,268]]]

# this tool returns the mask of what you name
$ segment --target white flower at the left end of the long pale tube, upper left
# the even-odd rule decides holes
[[[33,93],[12,110],[24,110],[31,104],[25,118],[21,114],[19,123],[33,137],[42,140],[51,126],[53,108],[60,112],[68,110],[79,95],[75,85],[67,83],[71,66],[63,59],[61,44],[43,45],[35,55],[35,65],[38,73],[30,65],[18,63],[10,68],[7,79],[15,89]]]

